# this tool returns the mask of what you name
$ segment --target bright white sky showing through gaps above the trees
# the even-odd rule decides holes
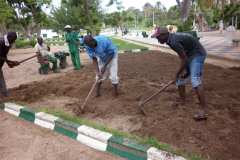
[[[116,6],[106,7],[109,0],[101,0],[101,6],[107,13],[116,11]],[[138,9],[142,9],[143,5],[147,2],[151,3],[152,5],[156,4],[157,1],[160,1],[167,9],[169,9],[171,6],[176,5],[176,0],[121,0],[122,5],[125,9],[128,9],[129,7],[134,7]],[[61,0],[53,0],[53,5],[55,7],[59,7],[61,3]]]

